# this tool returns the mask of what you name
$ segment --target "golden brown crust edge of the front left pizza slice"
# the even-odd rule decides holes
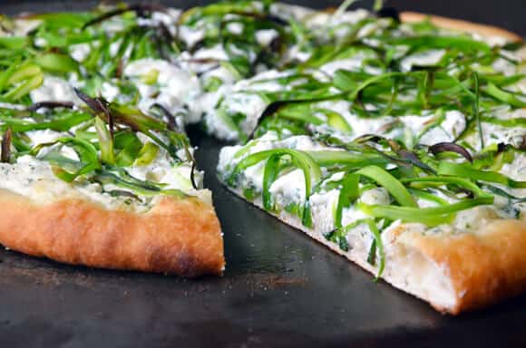
[[[73,265],[184,276],[220,275],[225,265],[214,208],[197,198],[162,198],[135,214],[80,199],[35,205],[0,190],[0,243]]]

